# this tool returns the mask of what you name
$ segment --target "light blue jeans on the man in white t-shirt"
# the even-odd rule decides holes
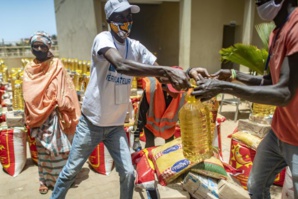
[[[134,167],[123,126],[98,127],[82,115],[72,142],[71,151],[55,184],[51,199],[64,199],[84,163],[103,141],[114,159],[120,176],[120,198],[131,199],[134,188]]]

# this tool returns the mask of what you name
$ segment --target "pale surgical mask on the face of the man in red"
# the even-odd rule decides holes
[[[258,14],[265,21],[272,21],[280,11],[284,0],[280,4],[275,4],[274,0],[270,0],[257,7]]]

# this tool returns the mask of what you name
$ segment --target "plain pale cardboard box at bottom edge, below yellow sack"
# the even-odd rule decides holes
[[[158,199],[190,199],[187,191],[183,190],[182,184],[169,184],[167,186],[157,185]]]

